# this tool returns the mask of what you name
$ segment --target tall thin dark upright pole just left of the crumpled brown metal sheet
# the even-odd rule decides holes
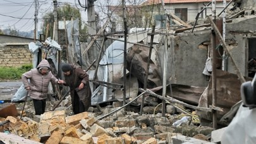
[[[125,105],[125,101],[126,101],[126,48],[127,48],[127,19],[126,19],[126,13],[125,13],[125,0],[122,0],[122,4],[123,4],[123,25],[125,28],[125,46],[124,46],[124,50],[123,50],[123,105]]]

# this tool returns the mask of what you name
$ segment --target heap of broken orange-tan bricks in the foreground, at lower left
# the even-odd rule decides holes
[[[11,131],[15,135],[41,142],[41,143],[133,143],[137,138],[126,133],[116,136],[115,130],[119,128],[105,129],[93,116],[93,113],[80,113],[73,116],[66,116],[65,111],[49,111],[40,116],[40,122],[30,118],[15,118],[8,116],[7,125],[0,128],[0,131]],[[120,122],[119,125],[122,125]],[[133,123],[133,122],[131,122]],[[125,125],[125,124],[123,124]],[[157,143],[155,138],[143,141],[146,143]]]

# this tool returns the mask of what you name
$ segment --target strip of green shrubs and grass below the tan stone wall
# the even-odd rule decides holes
[[[32,68],[32,65],[22,65],[21,67],[0,67],[0,80],[21,79],[21,75]]]

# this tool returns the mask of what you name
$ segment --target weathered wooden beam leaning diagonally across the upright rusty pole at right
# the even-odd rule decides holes
[[[208,16],[208,19],[210,21],[210,25],[212,26],[214,32],[217,35],[217,38],[219,39],[219,42],[221,43],[221,45],[224,48],[225,52],[228,53],[228,55],[230,56],[232,64],[235,67],[236,75],[238,75],[238,79],[240,79],[241,83],[246,82],[245,78],[241,74],[240,69],[238,68],[238,65],[236,65],[235,60],[233,59],[233,55],[231,53],[231,50],[229,49],[229,46],[226,45],[226,42],[225,42],[225,40],[223,40],[222,35],[219,32],[219,30],[217,29],[217,26],[215,25],[214,21],[212,20],[212,18],[210,18],[210,16]]]

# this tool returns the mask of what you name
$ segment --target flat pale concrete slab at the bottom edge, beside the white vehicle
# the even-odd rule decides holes
[[[183,135],[172,136],[171,140],[172,140],[173,144],[182,144],[182,143],[185,143],[185,142],[189,142],[189,143],[204,143],[204,144],[216,144],[216,143],[212,143],[212,142],[209,142],[209,141],[198,140],[196,138],[192,138],[192,137],[188,137],[188,136],[183,136]]]

